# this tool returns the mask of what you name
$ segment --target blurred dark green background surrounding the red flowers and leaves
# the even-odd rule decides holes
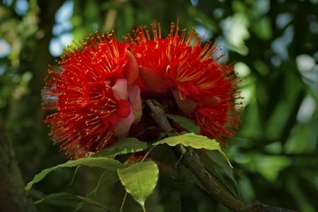
[[[163,36],[179,18],[222,47],[235,71],[245,107],[242,126],[225,150],[240,196],[298,211],[318,211],[318,1],[269,0],[1,0],[0,121],[6,126],[25,182],[67,159],[42,123],[41,89],[47,65],[67,45],[94,30],[117,38],[136,25],[160,22]],[[57,170],[35,184],[34,199],[68,190],[85,196],[100,170]],[[149,211],[227,211],[192,184],[179,192],[158,184]],[[99,195],[117,211],[124,190],[115,184]],[[141,208],[129,199],[127,211]],[[72,211],[73,203],[39,204],[40,211]],[[83,211],[100,211],[87,206]]]

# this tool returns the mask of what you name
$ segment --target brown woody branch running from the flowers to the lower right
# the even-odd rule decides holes
[[[160,128],[166,133],[172,131],[172,126],[167,120],[165,110],[163,110],[160,103],[155,100],[146,100],[146,104],[151,110],[151,117],[153,117]],[[293,212],[289,209],[266,204],[247,204],[240,199],[236,199],[235,196],[232,196],[232,194],[223,189],[210,172],[206,170],[206,167],[201,163],[193,148],[188,147],[185,153],[182,153],[181,146],[175,146],[174,150],[177,157],[182,157],[182,163],[199,179],[210,196],[230,210],[243,212]]]

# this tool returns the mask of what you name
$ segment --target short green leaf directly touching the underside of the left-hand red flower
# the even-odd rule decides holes
[[[148,144],[135,138],[126,138],[117,141],[112,146],[95,153],[93,157],[112,157],[126,153],[136,153],[148,148]]]

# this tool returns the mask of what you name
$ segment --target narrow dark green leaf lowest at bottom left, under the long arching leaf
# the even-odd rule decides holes
[[[44,198],[35,201],[34,204],[39,204],[45,201],[49,201],[52,199],[66,199],[66,200],[75,200],[75,201],[82,201],[85,202],[86,204],[90,204],[92,206],[97,206],[99,208],[103,208],[105,211],[110,211],[108,210],[104,205],[100,204],[98,201],[95,201],[94,199],[90,199],[85,196],[78,196],[75,194],[71,194],[68,192],[59,192],[59,193],[54,193],[54,194],[49,194],[45,196]]]

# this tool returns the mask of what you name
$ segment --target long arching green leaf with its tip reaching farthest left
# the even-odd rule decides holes
[[[92,157],[87,157],[87,158],[80,158],[78,160],[69,160],[68,162],[61,164],[61,165],[57,165],[54,167],[49,167],[45,170],[42,170],[40,173],[38,173],[37,175],[34,176],[33,180],[31,182],[29,182],[26,187],[25,190],[30,190],[30,188],[33,186],[33,184],[35,184],[36,182],[40,182],[43,178],[45,178],[45,176],[47,176],[47,174],[49,174],[49,172],[52,172],[54,170],[57,170],[60,167],[75,167],[77,165],[86,165],[86,166],[91,166],[91,167],[101,167],[107,170],[111,170],[111,171],[116,171],[117,168],[121,168],[124,167],[124,165],[122,165],[122,163],[119,163],[119,161],[117,160],[113,160],[111,158],[92,158]]]

